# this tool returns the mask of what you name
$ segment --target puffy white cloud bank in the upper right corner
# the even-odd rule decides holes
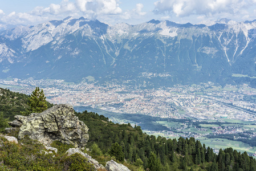
[[[256,0],[160,0],[155,2],[155,13],[174,14],[176,17],[212,16],[220,13],[240,14],[241,10],[247,9],[254,3]]]

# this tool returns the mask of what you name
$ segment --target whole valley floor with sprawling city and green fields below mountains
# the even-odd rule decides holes
[[[1,79],[0,87],[26,94],[43,88],[50,103],[91,109],[115,123],[141,125],[149,134],[195,137],[216,151],[232,146],[255,155],[256,89],[246,84],[221,87],[208,82],[148,89],[114,83]],[[147,117],[147,123],[136,116]]]

